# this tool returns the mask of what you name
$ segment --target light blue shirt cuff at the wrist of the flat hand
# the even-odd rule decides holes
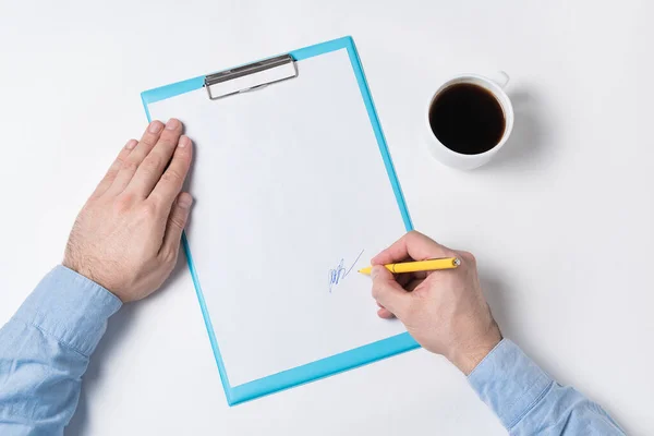
[[[107,319],[121,306],[118,296],[95,281],[58,265],[27,296],[14,318],[89,356],[105,334]]]

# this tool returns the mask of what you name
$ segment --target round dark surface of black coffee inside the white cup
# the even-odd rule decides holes
[[[447,148],[463,155],[479,155],[495,147],[505,124],[495,96],[470,83],[445,88],[429,108],[432,132]]]

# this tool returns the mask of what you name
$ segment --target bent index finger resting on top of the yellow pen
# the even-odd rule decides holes
[[[420,232],[410,231],[388,249],[373,257],[371,263],[373,265],[385,265],[407,261],[408,258],[426,261],[429,258],[453,256],[456,256],[456,253],[452,250],[440,245]]]

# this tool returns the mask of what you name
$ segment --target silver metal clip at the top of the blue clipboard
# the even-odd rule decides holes
[[[295,61],[290,55],[282,55],[209,74],[205,77],[204,86],[209,99],[218,100],[294,77],[298,77]]]

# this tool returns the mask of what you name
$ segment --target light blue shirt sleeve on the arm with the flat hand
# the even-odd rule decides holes
[[[0,329],[0,435],[62,435],[82,375],[121,301],[63,266]]]

